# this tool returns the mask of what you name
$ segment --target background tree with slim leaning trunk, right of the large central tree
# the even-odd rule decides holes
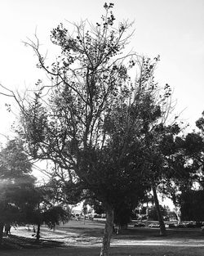
[[[168,113],[171,110],[171,103],[168,104],[171,97],[171,89],[168,85],[164,88],[163,95],[159,95],[160,104],[157,97],[149,97],[148,119],[144,118],[144,140],[140,143],[140,158],[144,162],[144,179],[149,182],[153,191],[153,200],[157,209],[158,221],[160,224],[160,234],[166,235],[166,228],[163,222],[162,213],[157,198],[157,188],[160,184],[167,182],[169,176],[168,159],[175,153],[175,135],[180,132],[178,124],[175,122],[166,125]],[[147,114],[146,113],[146,114]],[[145,113],[144,113],[145,114]]]

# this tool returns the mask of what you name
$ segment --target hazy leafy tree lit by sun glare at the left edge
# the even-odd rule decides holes
[[[33,189],[35,178],[31,175],[32,165],[24,153],[22,141],[7,142],[0,152],[0,242],[5,223],[24,222],[21,205],[24,196]]]

